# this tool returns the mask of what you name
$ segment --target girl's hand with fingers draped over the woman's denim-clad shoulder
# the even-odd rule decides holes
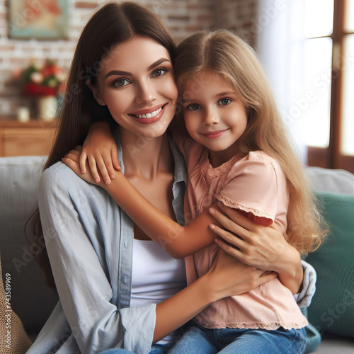
[[[118,149],[113,139],[108,122],[94,122],[89,130],[79,159],[81,173],[86,173],[86,161],[89,160],[89,167],[94,180],[98,183],[101,176],[105,184],[109,185],[110,180],[115,177],[115,170],[120,171],[118,161]],[[101,176],[97,171],[97,166]]]

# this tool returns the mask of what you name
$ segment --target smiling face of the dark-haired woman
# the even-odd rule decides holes
[[[177,88],[169,52],[149,38],[116,45],[102,60],[93,94],[121,127],[134,135],[159,137],[176,110]]]

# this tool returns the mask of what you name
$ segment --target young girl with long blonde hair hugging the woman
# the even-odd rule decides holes
[[[277,270],[276,262],[268,269],[246,258],[246,235],[232,238],[210,225],[236,249],[219,240],[207,246],[207,236],[194,237],[205,224],[197,216],[211,206],[210,212],[221,220],[218,200],[222,210],[237,209],[259,224],[273,224],[299,253],[316,249],[324,236],[319,215],[253,50],[227,30],[196,33],[178,46],[175,74],[185,127],[194,139],[176,134],[188,169],[186,222],[188,216],[194,221],[179,226],[149,205],[122,173],[110,185],[101,185],[170,254],[195,252],[185,261],[188,284],[207,273],[218,246],[245,263]],[[78,156],[68,154],[64,162],[82,176]],[[92,176],[84,178],[94,183]],[[202,250],[200,237],[207,246]],[[250,292],[214,302],[195,317],[171,353],[303,353],[307,320],[282,282],[297,292],[298,282],[282,275]]]

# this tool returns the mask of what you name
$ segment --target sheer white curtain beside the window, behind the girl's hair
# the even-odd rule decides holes
[[[304,1],[258,0],[253,23],[256,51],[272,86],[282,118],[299,156],[307,159],[304,144]]]

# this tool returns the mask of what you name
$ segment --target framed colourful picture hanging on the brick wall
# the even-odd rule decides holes
[[[8,1],[8,34],[15,39],[68,37],[68,0]]]

